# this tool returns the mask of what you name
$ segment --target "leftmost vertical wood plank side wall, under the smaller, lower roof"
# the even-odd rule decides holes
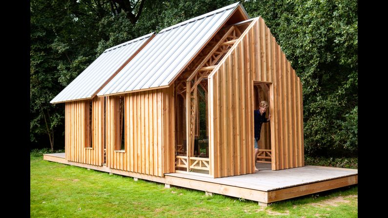
[[[89,100],[65,103],[65,154],[66,160],[102,165],[104,99],[94,98],[92,105],[92,148],[85,148]]]

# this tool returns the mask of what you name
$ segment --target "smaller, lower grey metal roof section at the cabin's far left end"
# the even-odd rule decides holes
[[[50,103],[90,99],[154,33],[106,49]]]

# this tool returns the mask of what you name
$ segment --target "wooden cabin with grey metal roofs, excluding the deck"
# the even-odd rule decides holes
[[[156,177],[304,166],[302,83],[239,2],[106,49],[50,102],[65,103],[66,161]]]

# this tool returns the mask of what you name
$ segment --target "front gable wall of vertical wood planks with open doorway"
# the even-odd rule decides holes
[[[209,76],[215,178],[254,172],[253,81],[271,83],[272,170],[304,166],[302,83],[259,17]]]

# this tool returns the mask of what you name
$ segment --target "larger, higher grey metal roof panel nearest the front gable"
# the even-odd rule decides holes
[[[239,4],[163,29],[97,95],[167,86]]]

